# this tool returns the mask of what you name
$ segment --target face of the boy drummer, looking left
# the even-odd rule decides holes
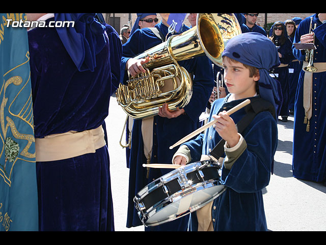
[[[223,59],[224,83],[236,100],[252,97],[256,94],[256,82],[259,75],[250,78],[250,71],[240,62]]]

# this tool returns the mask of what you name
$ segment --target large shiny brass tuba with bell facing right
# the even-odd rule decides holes
[[[206,55],[222,66],[226,42],[241,34],[234,14],[198,14],[196,27],[180,35],[172,35],[133,58],[146,58],[145,74],[129,77],[127,85],[120,84],[118,104],[132,118],[155,116],[158,108],[167,103],[170,110],[182,108],[192,96],[192,76],[178,61]]]

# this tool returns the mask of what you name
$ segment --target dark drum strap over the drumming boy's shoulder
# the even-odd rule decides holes
[[[242,117],[241,120],[236,124],[238,133],[243,132],[243,130],[248,127],[250,122],[259,112],[269,111],[274,118],[276,117],[274,106],[270,102],[260,97],[255,97],[250,99],[250,101],[251,103],[244,107],[244,110],[246,110],[247,114]],[[209,153],[209,155],[212,155],[216,159],[222,157],[224,155],[224,144],[225,140],[221,139],[220,142],[215,145],[214,149]]]

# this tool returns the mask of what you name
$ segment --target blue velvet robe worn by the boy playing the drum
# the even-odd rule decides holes
[[[244,101],[227,102],[229,96],[212,103],[208,121],[214,120],[212,115],[228,111]],[[240,109],[231,117],[237,123],[245,114],[244,109]],[[260,112],[241,135],[247,142],[247,149],[230,170],[224,164],[222,167],[221,181],[227,190],[213,201],[214,231],[267,230],[262,189],[268,185],[273,167],[278,140],[277,122],[269,112]],[[191,151],[192,162],[196,162],[201,155],[208,155],[220,140],[218,132],[210,127],[184,145]],[[197,231],[196,212],[191,215],[191,230]]]

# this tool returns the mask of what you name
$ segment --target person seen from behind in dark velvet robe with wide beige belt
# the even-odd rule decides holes
[[[104,119],[120,81],[122,44],[96,14],[42,15],[46,24],[74,21],[74,28],[28,32],[39,230],[114,231]],[[84,146],[91,150],[79,153]]]

